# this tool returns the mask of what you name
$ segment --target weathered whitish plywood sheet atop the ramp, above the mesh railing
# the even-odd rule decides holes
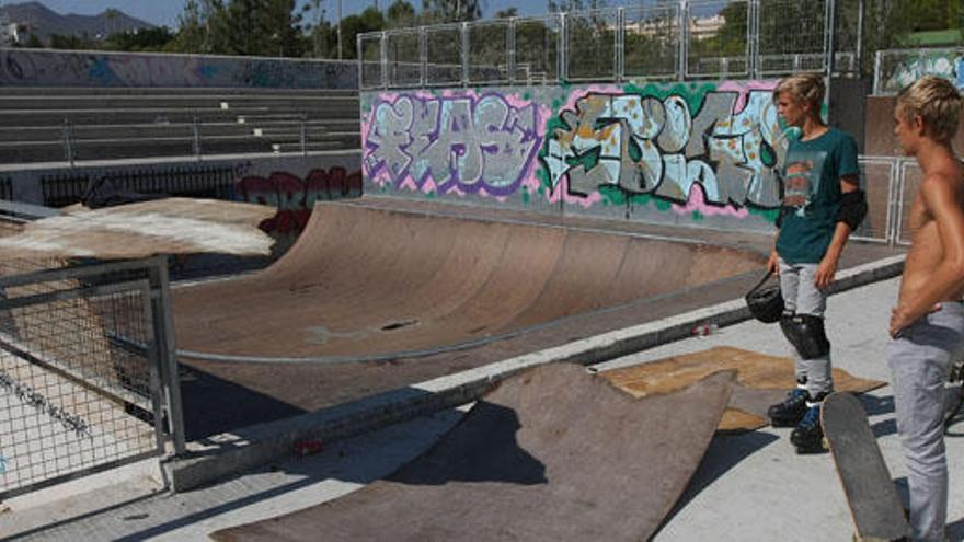
[[[167,198],[70,210],[0,238],[0,256],[147,257],[154,254],[267,255],[273,240],[257,229],[272,207],[214,199]]]

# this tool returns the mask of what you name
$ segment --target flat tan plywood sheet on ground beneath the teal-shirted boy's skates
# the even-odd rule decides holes
[[[749,431],[768,425],[767,407],[782,401],[790,391],[787,383],[796,379],[792,359],[732,346],[670,356],[599,374],[632,396],[644,397],[673,393],[724,370],[734,370],[737,377],[730,406],[718,427],[720,431]],[[864,393],[884,383],[834,368],[837,391]]]

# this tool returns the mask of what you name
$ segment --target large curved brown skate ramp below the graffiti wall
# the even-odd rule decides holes
[[[175,289],[174,320],[188,358],[394,359],[479,346],[762,263],[755,251],[707,243],[319,203],[273,266]]]

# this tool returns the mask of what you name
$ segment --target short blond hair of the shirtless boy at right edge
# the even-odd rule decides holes
[[[925,134],[950,141],[957,134],[964,100],[954,84],[937,76],[923,76],[897,94],[897,113],[906,120],[919,116]]]

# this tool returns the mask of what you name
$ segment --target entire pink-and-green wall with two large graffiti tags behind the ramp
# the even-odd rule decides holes
[[[770,229],[776,81],[363,93],[366,192]]]

